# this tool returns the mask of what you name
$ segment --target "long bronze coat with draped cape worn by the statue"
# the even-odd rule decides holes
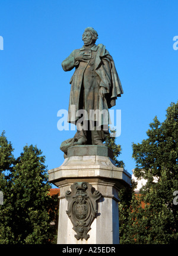
[[[90,60],[75,61],[77,51],[85,51],[90,54]],[[91,120],[90,110],[107,110],[116,103],[117,96],[123,93],[122,85],[117,74],[113,58],[102,44],[94,45],[90,49],[84,46],[75,49],[62,62],[64,71],[70,71],[75,67],[71,77],[71,93],[69,98],[68,122],[75,123],[78,118],[77,111],[87,111],[88,120]],[[100,87],[107,90],[104,99],[99,94]],[[94,121],[97,121],[96,115]]]

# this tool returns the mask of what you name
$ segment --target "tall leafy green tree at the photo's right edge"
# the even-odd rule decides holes
[[[145,208],[132,205],[128,240],[136,243],[176,243],[178,239],[178,102],[167,108],[163,123],[155,117],[147,131],[147,139],[133,143],[136,161],[135,177],[147,180],[138,200]]]

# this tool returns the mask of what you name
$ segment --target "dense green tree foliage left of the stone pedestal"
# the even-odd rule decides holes
[[[2,173],[8,170],[9,174],[4,174],[0,180],[0,184],[4,180],[8,183],[7,188],[2,184],[5,201],[0,205],[0,243],[55,242],[56,227],[51,227],[50,222],[56,217],[58,198],[49,195],[51,185],[42,151],[33,145],[24,146],[20,157],[14,161],[11,144],[4,134],[1,141],[4,142],[0,148]]]

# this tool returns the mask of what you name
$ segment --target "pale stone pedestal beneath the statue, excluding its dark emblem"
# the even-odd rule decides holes
[[[130,184],[131,174],[115,166],[110,149],[95,145],[72,146],[63,164],[48,173],[49,181],[60,188],[58,243],[118,244],[118,191]],[[74,225],[66,213],[69,207],[66,192],[70,193],[71,185],[77,182],[89,183],[93,192],[96,190],[101,193],[87,240],[75,238]]]

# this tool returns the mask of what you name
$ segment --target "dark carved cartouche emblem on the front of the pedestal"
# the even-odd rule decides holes
[[[97,200],[101,193],[96,191],[87,182],[76,182],[71,185],[71,191],[66,191],[65,198],[68,200],[68,217],[71,219],[73,229],[77,233],[75,238],[87,240],[90,235],[91,223],[97,217]]]

